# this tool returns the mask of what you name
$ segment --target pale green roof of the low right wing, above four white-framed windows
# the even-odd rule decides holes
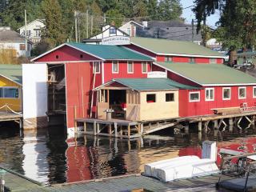
[[[155,62],[166,70],[173,71],[200,85],[240,85],[255,84],[256,78],[229,66],[219,64],[191,64]]]

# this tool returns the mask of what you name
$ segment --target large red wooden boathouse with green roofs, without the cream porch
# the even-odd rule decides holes
[[[147,78],[151,71],[162,71],[174,81],[174,85],[163,87],[175,87],[176,82],[194,87],[175,88],[178,117],[256,104],[256,78],[222,65],[221,54],[192,42],[131,38],[126,46],[65,43],[34,58],[33,62],[48,66],[47,113],[66,114],[68,128],[74,128],[74,117],[97,115],[96,87],[112,79]],[[120,89],[118,86],[114,89]],[[128,89],[134,91],[122,87]],[[173,99],[170,93],[169,97]],[[158,101],[158,98],[151,100]]]

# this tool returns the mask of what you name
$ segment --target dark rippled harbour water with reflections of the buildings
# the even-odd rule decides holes
[[[0,127],[0,165],[46,184],[78,182],[140,173],[145,163],[161,159],[188,154],[200,157],[202,141],[208,139],[217,141],[218,147],[253,152],[255,135],[252,128],[212,130],[202,136],[170,130],[129,142],[88,135],[67,139],[62,127],[21,133],[9,125]]]

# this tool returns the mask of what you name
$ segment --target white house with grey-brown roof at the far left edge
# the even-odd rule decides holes
[[[13,50],[16,57],[30,57],[32,43],[27,43],[27,51],[25,46],[25,38],[22,38],[10,27],[0,27],[0,50]]]

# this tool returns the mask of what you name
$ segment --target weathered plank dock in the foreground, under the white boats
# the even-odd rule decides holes
[[[26,178],[14,171],[7,170],[4,175],[6,190],[25,191],[90,191],[90,192],[120,192],[120,191],[218,191],[215,183],[218,182],[218,175],[210,175],[202,178],[182,179],[174,182],[160,182],[154,178],[148,178],[141,174],[122,175],[113,178],[100,178],[89,181],[54,184],[44,186],[30,178]],[[222,190],[223,191],[223,190]]]

